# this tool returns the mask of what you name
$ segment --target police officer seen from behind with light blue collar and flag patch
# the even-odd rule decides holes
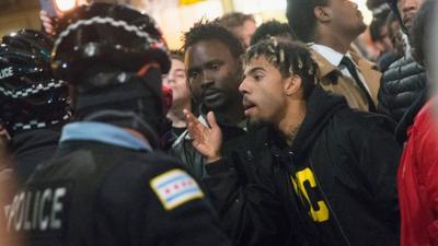
[[[60,20],[54,72],[73,87],[76,122],[14,197],[7,229],[32,245],[229,245],[204,192],[157,150],[165,43],[153,21],[95,3]]]

